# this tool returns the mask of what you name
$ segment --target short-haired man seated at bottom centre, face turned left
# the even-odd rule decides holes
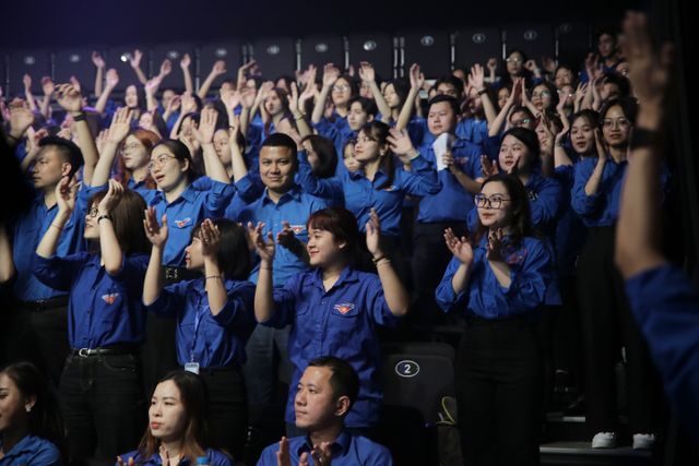
[[[311,360],[298,381],[294,410],[296,427],[307,433],[283,437],[262,451],[258,466],[333,464],[335,466],[390,466],[391,453],[366,437],[353,435],[344,426],[359,391],[352,365],[332,356]]]

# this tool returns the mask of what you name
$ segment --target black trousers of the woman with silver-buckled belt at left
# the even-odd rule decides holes
[[[134,355],[69,356],[59,385],[71,464],[114,464],[133,450],[146,426]]]

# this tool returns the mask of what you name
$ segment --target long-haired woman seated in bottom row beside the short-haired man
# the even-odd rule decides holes
[[[233,466],[226,454],[209,447],[206,430],[204,382],[183,370],[168,372],[151,397],[139,447],[117,456],[115,466],[193,466],[200,457],[211,466]]]

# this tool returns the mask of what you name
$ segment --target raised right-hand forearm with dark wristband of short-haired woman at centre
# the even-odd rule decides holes
[[[371,208],[369,222],[366,224],[366,230],[367,249],[371,253],[371,259],[376,264],[376,271],[379,274],[381,287],[383,288],[386,303],[389,306],[393,315],[405,315],[410,306],[410,296],[395,273],[393,265],[391,265],[391,260],[383,253],[379,246],[381,224],[379,223],[379,215],[374,208]]]

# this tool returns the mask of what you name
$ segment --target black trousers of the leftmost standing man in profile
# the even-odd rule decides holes
[[[68,301],[45,309],[15,301],[7,325],[3,331],[7,359],[10,362],[33,362],[57,387],[66,357],[70,353]]]

